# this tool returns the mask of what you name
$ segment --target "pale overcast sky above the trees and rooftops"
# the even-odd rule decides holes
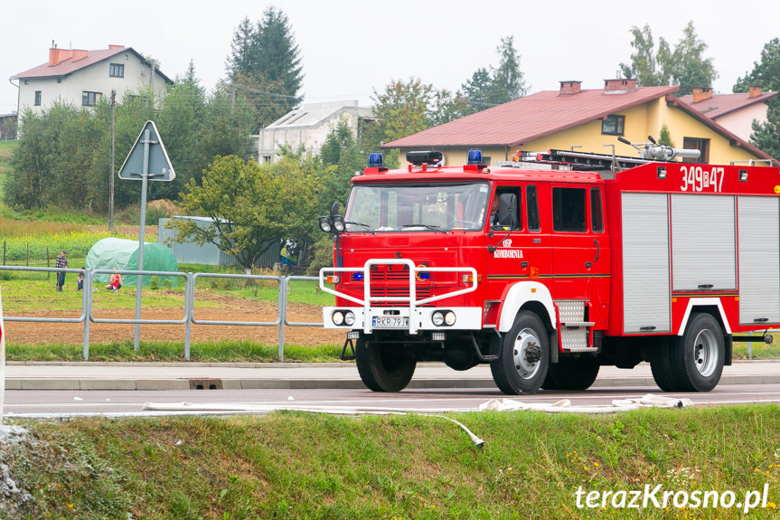
[[[558,90],[561,80],[601,89],[630,61],[633,25],[649,24],[656,43],[663,37],[673,48],[691,20],[719,72],[714,90],[728,93],[765,43],[780,37],[777,0],[4,0],[0,114],[16,109],[17,89],[7,79],[48,61],[52,40],[65,49],[133,47],[172,79],[193,60],[202,86],[212,89],[225,77],[236,26],[246,16],[257,22],[268,5],[287,14],[295,33],[304,102],[358,99],[364,106],[374,90],[412,76],[457,90],[478,68],[498,64],[496,46],[510,35],[530,93]]]

